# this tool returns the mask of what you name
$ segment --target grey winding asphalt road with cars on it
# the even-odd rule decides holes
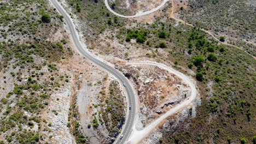
[[[125,120],[125,125],[123,128],[123,132],[121,135],[124,135],[123,139],[119,139],[115,141],[115,143],[125,143],[127,139],[129,139],[129,136],[132,131],[133,123],[135,121],[135,113],[136,113],[136,99],[135,94],[133,93],[132,86],[130,85],[129,81],[126,79],[126,77],[121,74],[118,70],[115,68],[109,66],[106,62],[104,62],[102,59],[95,57],[90,52],[88,52],[86,49],[86,46],[83,46],[82,43],[80,43],[78,33],[75,31],[75,27],[73,25],[73,22],[71,20],[71,17],[66,13],[66,11],[61,7],[60,3],[57,2],[57,0],[50,0],[50,2],[54,5],[54,7],[59,11],[59,13],[64,17],[66,24],[68,26],[68,29],[71,33],[71,37],[74,41],[75,47],[77,47],[77,50],[80,52],[81,55],[83,55],[85,58],[87,58],[90,62],[98,65],[99,67],[107,70],[109,73],[117,77],[117,79],[121,83],[125,83],[126,87],[126,93],[128,97],[128,105],[132,107],[131,110],[129,110],[129,114],[127,119]]]

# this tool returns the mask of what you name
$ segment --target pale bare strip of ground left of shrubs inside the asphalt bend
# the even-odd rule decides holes
[[[86,136],[89,137],[91,143],[101,143],[102,135],[108,136],[108,131],[101,125],[94,129],[92,126],[89,129],[88,124],[92,125],[94,120],[94,113],[100,111],[99,107],[94,107],[95,104],[100,104],[98,99],[102,87],[107,86],[109,79],[106,83],[102,82],[105,76],[108,76],[104,71],[96,67],[87,67],[86,72],[81,77],[83,83],[77,97],[78,112],[80,115],[80,124]],[[98,115],[97,115],[97,118]],[[101,131],[101,134],[98,134]]]

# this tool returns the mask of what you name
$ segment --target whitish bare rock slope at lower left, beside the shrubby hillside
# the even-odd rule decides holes
[[[49,135],[53,136],[48,140],[52,143],[75,143],[74,137],[71,133],[69,133],[69,129],[67,127],[70,94],[71,85],[69,83],[69,85],[51,95],[48,109],[45,110],[41,115],[41,117],[46,120],[47,124],[52,124],[51,127],[49,127],[49,129],[51,129],[50,131],[43,132],[45,137],[48,137]],[[56,110],[58,115],[55,115],[52,110]]]

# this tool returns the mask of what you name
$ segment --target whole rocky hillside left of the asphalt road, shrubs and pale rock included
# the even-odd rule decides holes
[[[62,16],[40,0],[1,1],[0,15],[0,143],[75,143]]]

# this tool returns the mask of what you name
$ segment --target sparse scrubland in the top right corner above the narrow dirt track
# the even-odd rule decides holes
[[[222,42],[233,43],[255,56],[253,33],[255,16],[253,4],[247,1],[189,1],[188,8],[180,11],[184,21],[211,31]],[[236,9],[233,9],[236,7]],[[231,9],[231,11],[229,10]],[[200,22],[199,22],[200,21]]]

